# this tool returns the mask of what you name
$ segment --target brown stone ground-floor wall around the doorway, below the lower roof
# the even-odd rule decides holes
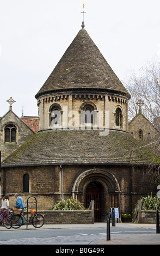
[[[85,170],[100,168],[100,166],[89,165],[70,165],[63,167],[63,198],[72,196],[72,187],[79,175]],[[104,184],[103,176],[100,178],[98,173],[101,172],[113,174],[120,186],[120,192],[110,191],[109,185]],[[94,172],[94,171],[93,171]],[[23,175],[29,175],[29,192],[23,191]],[[144,168],[141,167],[128,167],[128,166],[101,166],[97,169],[93,178],[90,176],[90,181],[101,182],[104,188],[103,200],[106,202],[104,205],[104,215],[107,216],[110,207],[120,206],[121,213],[132,213],[137,200],[141,196],[147,196],[148,193],[153,193],[153,184],[151,184]],[[10,206],[15,205],[14,194],[19,193],[23,197],[24,204],[26,205],[27,198],[34,196],[38,202],[38,210],[51,209],[54,204],[61,200],[61,169],[59,166],[36,166],[36,167],[19,167],[2,169],[2,194],[10,194]],[[82,191],[79,190],[77,199],[85,202],[85,188],[89,181],[85,181],[82,186]],[[82,182],[83,183],[83,182]],[[120,205],[118,198],[120,197]],[[106,218],[106,217],[105,217]]]

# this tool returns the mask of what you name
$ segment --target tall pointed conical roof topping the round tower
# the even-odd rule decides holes
[[[130,98],[85,29],[78,32],[35,97],[77,89],[114,91]]]

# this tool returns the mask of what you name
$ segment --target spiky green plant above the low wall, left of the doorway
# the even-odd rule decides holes
[[[59,201],[50,210],[53,211],[68,211],[68,210],[85,210],[83,203],[73,198],[66,198]]]

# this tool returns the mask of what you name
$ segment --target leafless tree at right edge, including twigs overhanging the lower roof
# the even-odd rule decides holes
[[[157,156],[160,155],[160,62],[156,59],[152,62],[147,62],[139,70],[139,74],[131,72],[131,76],[124,82],[128,92],[131,94],[131,99],[128,102],[128,119],[135,117],[141,108],[139,100],[143,102],[143,114],[153,124],[153,129],[157,132],[152,141],[143,141],[142,147],[150,148]],[[142,104],[141,104],[142,105]],[[150,170],[155,169],[155,166],[150,164]],[[160,180],[160,166],[156,167],[157,172],[155,180]],[[153,173],[155,173],[153,171]],[[153,178],[153,173],[150,172]]]

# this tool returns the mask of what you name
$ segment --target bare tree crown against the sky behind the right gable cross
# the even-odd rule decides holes
[[[160,128],[160,62],[147,62],[138,75],[132,72],[124,84],[132,96],[128,103],[129,120],[138,114],[137,102],[141,99],[144,115]]]

